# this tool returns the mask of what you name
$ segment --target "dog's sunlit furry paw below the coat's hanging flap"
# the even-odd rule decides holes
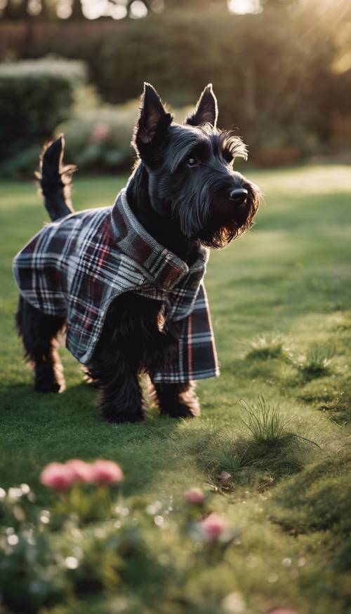
[[[195,418],[201,413],[194,382],[154,383],[161,415],[171,418]]]

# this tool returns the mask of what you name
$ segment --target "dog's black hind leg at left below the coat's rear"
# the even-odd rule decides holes
[[[65,325],[65,318],[39,312],[20,297],[15,321],[25,347],[25,357],[34,367],[34,389],[38,392],[62,392],[65,379],[56,335]]]

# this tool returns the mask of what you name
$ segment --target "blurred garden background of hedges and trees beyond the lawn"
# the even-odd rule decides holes
[[[212,81],[220,126],[237,129],[260,166],[349,155],[350,0],[0,0],[0,7],[3,175],[32,172],[41,142],[60,131],[67,159],[80,168],[128,168],[143,81],[178,118]]]

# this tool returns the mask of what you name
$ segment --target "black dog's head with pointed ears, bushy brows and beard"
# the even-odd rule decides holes
[[[243,234],[259,203],[256,185],[233,170],[237,156],[246,159],[246,146],[216,128],[217,115],[211,84],[183,125],[145,84],[132,141],[147,169],[154,210],[178,222],[188,239],[213,248]]]

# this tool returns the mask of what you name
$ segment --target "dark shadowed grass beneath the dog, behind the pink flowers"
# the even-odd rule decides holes
[[[109,424],[96,407],[98,393],[85,382],[62,394],[34,392],[32,383],[0,386],[3,399],[1,420],[6,432],[1,486],[28,482],[38,493],[39,474],[48,462],[69,458],[86,461],[96,458],[116,460],[126,474],[126,495],[145,492],[157,483],[174,446],[177,420],[159,418],[150,411],[140,424]],[[162,450],[162,454],[160,451]],[[6,458],[16,456],[8,472]]]

